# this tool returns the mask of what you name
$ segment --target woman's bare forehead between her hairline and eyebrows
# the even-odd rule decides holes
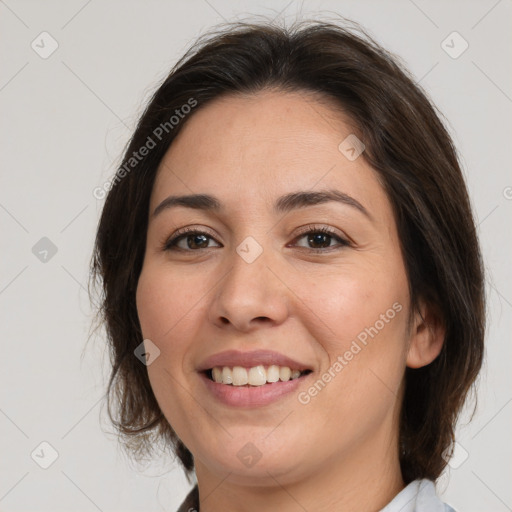
[[[364,158],[349,160],[339,149],[356,132],[341,109],[309,93],[214,100],[187,120],[163,158],[152,207],[169,194],[210,193],[248,208],[323,188],[389,207]]]

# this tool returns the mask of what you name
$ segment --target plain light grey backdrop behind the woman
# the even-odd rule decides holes
[[[172,512],[186,495],[176,464],[136,467],[106,420],[104,338],[86,346],[103,205],[93,190],[194,39],[255,14],[360,22],[446,116],[478,219],[489,326],[479,406],[439,489],[461,512],[512,510],[511,0],[0,0],[0,510]]]

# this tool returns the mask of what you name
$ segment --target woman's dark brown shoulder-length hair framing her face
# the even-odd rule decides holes
[[[406,483],[435,480],[445,467],[444,453],[483,358],[484,277],[475,223],[455,148],[435,107],[396,57],[355,27],[230,24],[191,47],[142,114],[106,198],[92,261],[93,278],[102,282],[100,313],[112,361],[109,414],[134,452],[151,453],[152,443],[163,440],[187,475],[193,469],[191,453],[163,416],[146,367],[134,356],[143,339],[135,292],[157,169],[187,119],[209,101],[277,88],[317,93],[343,108],[391,201],[411,306],[425,301],[446,327],[435,361],[406,369],[402,476]],[[197,106],[183,115],[191,110],[183,108],[187,104]],[[174,114],[180,114],[176,123],[178,117],[170,122]],[[148,137],[159,140],[136,163],[130,160]]]

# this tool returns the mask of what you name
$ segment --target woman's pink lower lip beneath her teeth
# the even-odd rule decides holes
[[[309,375],[311,374],[286,382],[263,384],[263,386],[233,386],[219,384],[209,379],[204,373],[200,373],[200,377],[212,395],[222,403],[233,407],[260,407],[276,402],[296,391]]]

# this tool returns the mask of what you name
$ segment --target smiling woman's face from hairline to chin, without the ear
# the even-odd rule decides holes
[[[137,308],[198,474],[283,484],[398,456],[408,283],[353,137],[325,102],[267,91],[198,110],[162,162]],[[164,202],[195,194],[213,199]]]

